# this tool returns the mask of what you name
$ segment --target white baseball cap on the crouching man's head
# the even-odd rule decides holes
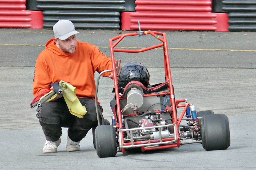
[[[55,38],[66,40],[68,37],[80,33],[75,31],[75,26],[70,20],[62,19],[53,25],[53,34]]]

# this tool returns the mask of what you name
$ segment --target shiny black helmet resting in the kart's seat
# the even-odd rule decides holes
[[[118,87],[125,87],[131,81],[141,82],[145,87],[149,85],[149,71],[143,64],[130,62],[124,65],[118,74]]]

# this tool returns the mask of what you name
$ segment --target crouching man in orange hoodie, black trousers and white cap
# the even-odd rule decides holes
[[[95,128],[97,115],[95,109],[95,71],[112,69],[111,58],[102,53],[95,45],[78,41],[73,23],[59,20],[53,26],[54,38],[50,39],[45,49],[39,54],[33,80],[33,95],[37,96],[51,83],[63,80],[76,87],[76,96],[85,106],[87,113],[83,118],[69,112],[63,95],[57,95],[54,101],[42,104],[38,108],[37,117],[45,134],[46,142],[43,153],[57,152],[61,143],[62,127],[68,127],[67,151],[79,151],[79,141],[91,128]],[[115,61],[116,71],[120,70],[120,62]],[[102,76],[113,78],[113,73]],[[101,111],[102,107],[98,106]]]

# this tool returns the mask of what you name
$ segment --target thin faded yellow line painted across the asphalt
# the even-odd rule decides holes
[[[45,46],[36,44],[0,44],[0,45],[16,45],[16,46]],[[108,46],[98,46],[98,48],[109,48]],[[121,49],[143,49],[144,47],[115,47]],[[163,49],[163,48],[157,48]],[[169,50],[201,50],[201,51],[241,51],[241,52],[256,52],[256,50],[238,50],[238,49],[202,49],[202,48],[168,48]]]

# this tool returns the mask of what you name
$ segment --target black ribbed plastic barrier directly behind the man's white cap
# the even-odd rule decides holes
[[[77,29],[120,29],[124,0],[37,0],[43,11],[43,27],[52,28],[60,19],[71,20]]]

